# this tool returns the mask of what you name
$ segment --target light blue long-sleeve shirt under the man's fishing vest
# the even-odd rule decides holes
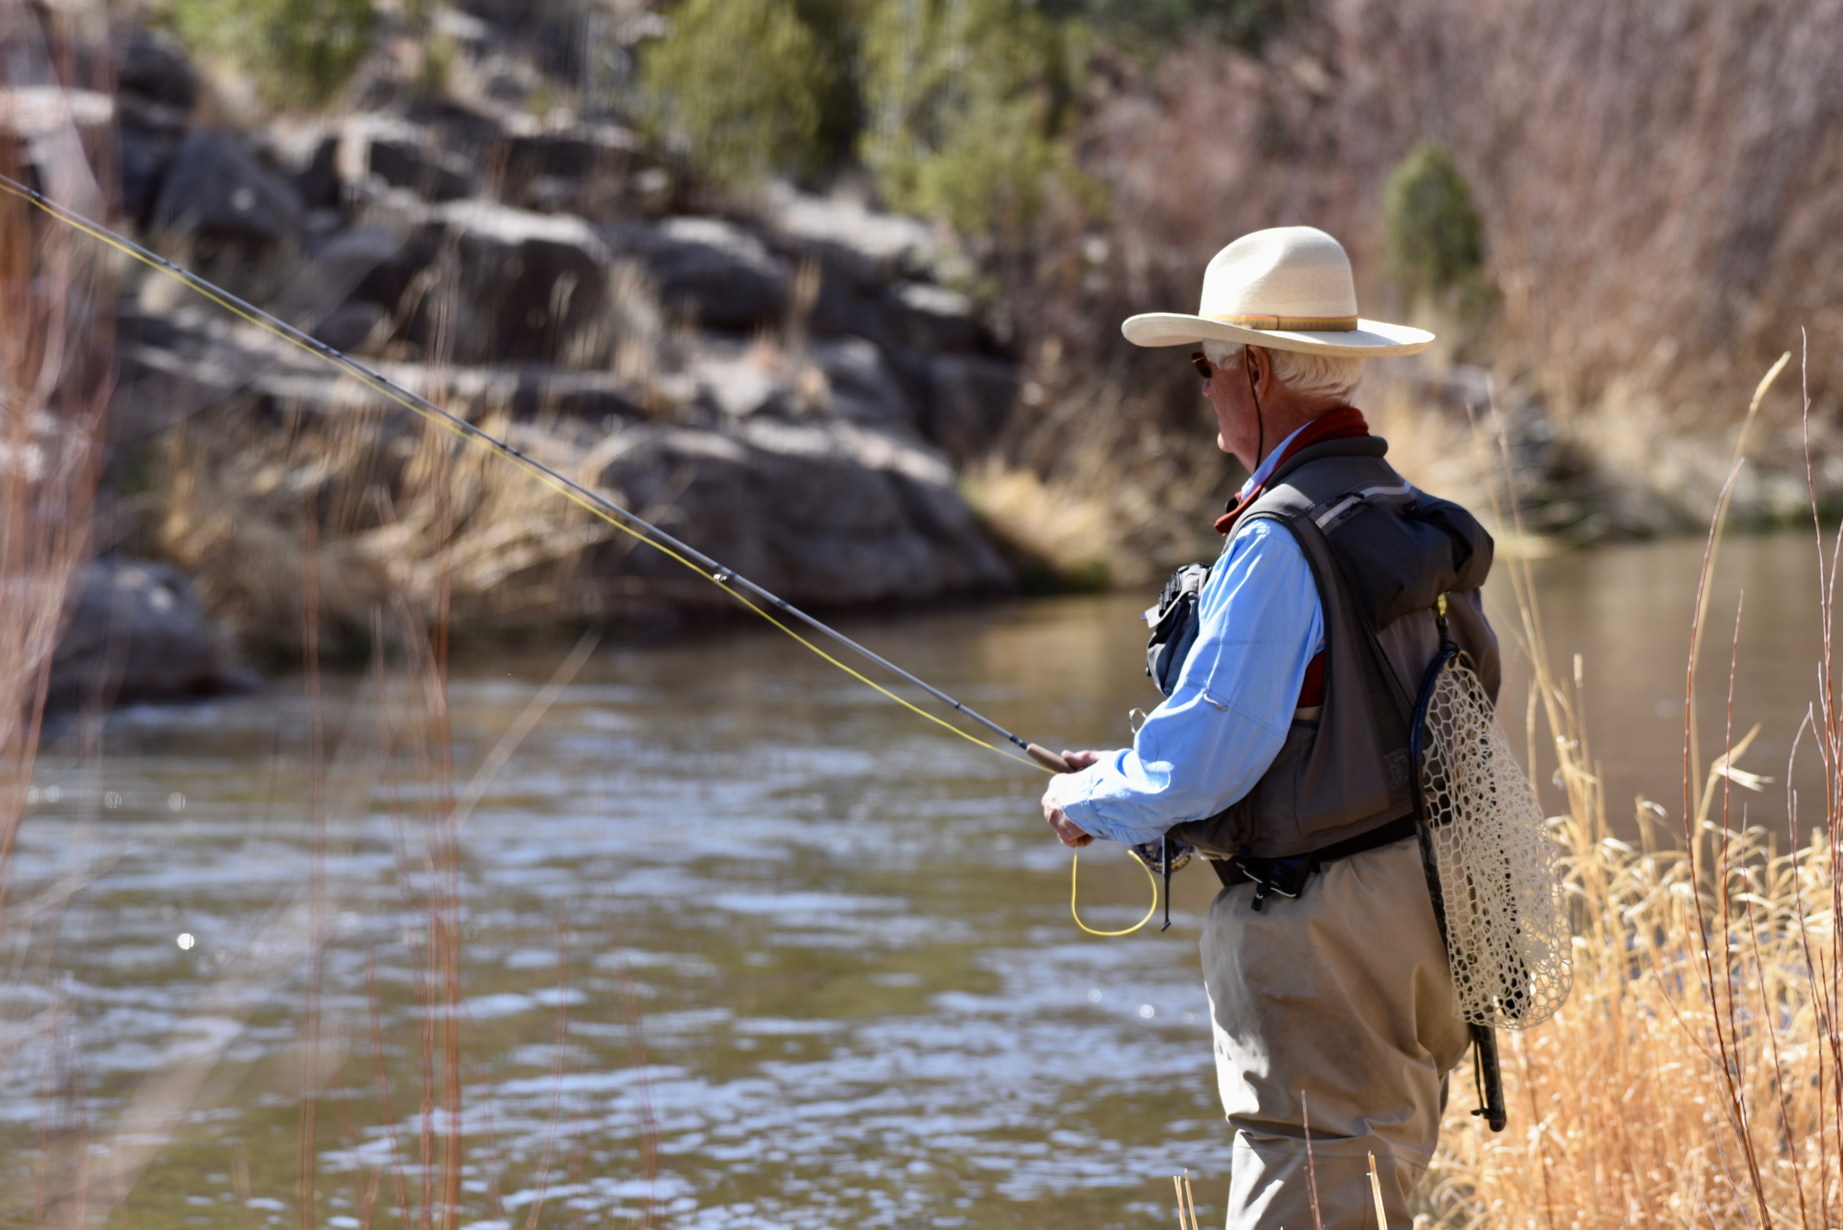
[[[1198,597],[1196,643],[1178,687],[1132,748],[1074,775],[1063,814],[1084,832],[1133,845],[1235,803],[1286,742],[1305,670],[1321,648],[1325,613],[1299,543],[1274,521],[1238,527]]]

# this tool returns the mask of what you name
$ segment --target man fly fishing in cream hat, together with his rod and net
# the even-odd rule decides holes
[[[1056,755],[352,355],[26,184],[0,175],[0,191],[498,455],[914,714],[1023,759],[800,626],[984,725],[1056,772],[1043,814],[1067,845],[1152,843],[1167,876],[1174,849],[1203,854],[1224,884],[1203,981],[1235,1125],[1231,1230],[1368,1221],[1371,1155],[1388,1175],[1375,1199],[1406,1223],[1467,1040],[1480,1114],[1504,1127],[1491,1029],[1541,1024],[1570,981],[1554,841],[1493,714],[1497,641],[1478,598],[1491,538],[1403,481],[1349,405],[1364,359],[1432,335],[1358,320],[1331,236],[1244,236],[1209,263],[1198,315],[1126,320],[1141,346],[1202,344],[1216,444],[1251,477],[1216,519],[1218,562],[1181,569],[1148,613],[1167,703],[1130,749]]]

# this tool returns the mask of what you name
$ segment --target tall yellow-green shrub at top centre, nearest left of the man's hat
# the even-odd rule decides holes
[[[875,0],[859,155],[890,206],[1017,236],[1074,177],[1060,127],[1076,63],[1080,28],[1030,0]]]

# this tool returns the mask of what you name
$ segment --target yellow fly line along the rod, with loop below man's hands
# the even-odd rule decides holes
[[[396,389],[387,379],[382,379],[382,377],[370,374],[369,370],[361,368],[348,355],[345,355],[345,354],[341,354],[337,350],[332,350],[330,346],[323,348],[323,346],[317,346],[317,344],[310,344],[299,331],[286,328],[282,322],[275,320],[275,317],[269,317],[267,313],[264,313],[260,309],[249,308],[247,304],[236,300],[232,295],[229,295],[225,291],[219,291],[216,285],[212,285],[205,278],[199,278],[197,274],[192,274],[192,273],[181,269],[179,265],[173,265],[171,261],[162,260],[162,258],[147,252],[140,245],[131,243],[129,239],[123,239],[122,236],[118,236],[116,232],[109,230],[107,226],[92,223],[90,219],[83,217],[81,214],[76,214],[72,210],[66,210],[65,206],[53,204],[42,193],[37,193],[37,191],[26,188],[22,184],[17,184],[17,182],[13,182],[11,179],[7,179],[4,175],[0,175],[0,191],[6,191],[9,195],[13,195],[13,197],[18,197],[18,199],[29,203],[31,206],[35,206],[41,212],[44,212],[48,217],[53,217],[59,223],[65,223],[66,226],[70,226],[70,228],[74,228],[74,230],[88,236],[90,239],[96,239],[98,243],[103,243],[109,249],[114,249],[116,252],[127,256],[129,260],[133,260],[133,261],[136,261],[140,265],[146,265],[147,269],[153,269],[155,273],[160,273],[160,274],[164,274],[164,276],[179,282],[181,285],[192,289],[195,295],[199,295],[199,296],[203,296],[203,298],[217,304],[219,308],[223,308],[230,315],[238,317],[245,324],[256,326],[264,333],[288,342],[295,350],[310,354],[310,355],[313,355],[313,357],[317,357],[317,359],[321,359],[324,363],[332,363],[346,377],[358,381],[359,385],[363,385],[370,392],[378,394],[380,398],[385,398],[387,401],[391,401],[394,405],[400,405],[405,411],[415,412],[424,422],[440,425],[442,429],[446,429],[452,435],[459,436],[466,444],[472,444],[475,447],[487,447],[488,451],[492,451],[498,457],[501,457],[505,462],[509,462],[509,464],[516,466],[518,470],[525,471],[527,475],[531,475],[533,479],[536,479],[538,482],[542,482],[549,490],[557,492],[558,495],[562,495],[569,503],[577,505],[579,508],[582,508],[590,516],[599,517],[601,521],[606,521],[608,525],[612,525],[614,528],[621,530],[623,534],[627,534],[627,536],[630,536],[630,538],[634,538],[634,540],[638,540],[638,541],[652,547],[654,551],[662,552],[663,556],[667,556],[671,560],[676,560],[678,563],[682,563],[689,571],[697,573],[698,576],[702,576],[710,584],[713,584],[719,589],[722,589],[726,595],[730,595],[730,598],[734,598],[741,606],[748,608],[750,611],[754,611],[756,615],[759,615],[761,619],[765,619],[769,624],[772,624],[772,626],[780,628],[781,632],[785,632],[798,644],[802,644],[804,648],[811,650],[820,659],[831,663],[833,667],[837,667],[844,674],[851,676],[853,679],[857,679],[864,687],[874,689],[881,696],[885,696],[888,700],[894,700],[898,705],[901,705],[909,713],[912,713],[912,714],[916,714],[920,718],[927,718],[929,722],[933,722],[934,725],[942,727],[944,731],[958,735],[960,738],[968,740],[969,744],[975,744],[975,746],[984,748],[988,751],[995,751],[997,755],[1001,755],[1001,757],[1004,757],[1008,760],[1017,760],[1019,764],[1028,764],[1032,768],[1041,768],[1045,773],[1052,773],[1054,772],[1049,766],[1038,764],[1036,760],[1032,760],[1028,757],[1021,757],[1021,755],[1017,755],[1014,751],[1008,751],[1006,748],[1001,748],[999,744],[990,744],[990,742],[979,738],[977,735],[971,735],[969,731],[960,729],[953,722],[947,722],[945,718],[942,718],[938,714],[933,714],[927,709],[922,709],[920,705],[916,705],[914,702],[910,702],[910,700],[907,700],[903,696],[898,696],[888,687],[877,683],[875,679],[872,679],[870,676],[863,674],[861,670],[857,670],[850,663],[839,661],[837,657],[833,657],[831,654],[828,654],[826,650],[822,650],[818,644],[815,644],[807,637],[800,635],[798,632],[794,632],[792,628],[789,628],[785,622],[781,622],[780,619],[776,619],[774,615],[770,615],[767,609],[763,609],[761,606],[757,606],[756,602],[752,602],[748,597],[745,597],[743,593],[739,593],[734,586],[730,586],[728,582],[734,576],[732,573],[728,573],[728,571],[724,571],[721,567],[719,569],[706,569],[704,565],[697,563],[695,560],[687,558],[686,554],[675,551],[671,545],[660,541],[658,536],[641,534],[638,528],[634,528],[632,525],[628,525],[627,521],[623,521],[619,516],[616,516],[614,512],[610,512],[606,506],[595,503],[595,499],[590,499],[584,492],[577,490],[571,482],[568,482],[560,475],[557,475],[557,473],[549,471],[546,466],[531,460],[529,457],[525,457],[518,449],[514,449],[514,447],[511,447],[511,446],[507,446],[503,442],[494,440],[492,436],[488,436],[487,433],[479,431],[477,427],[474,427],[466,420],[463,420],[461,416],[457,416],[457,414],[453,414],[450,411],[444,411],[440,407],[435,407],[433,403],[428,403],[428,401],[418,400],[415,396],[407,396],[404,390]],[[337,355],[337,359],[334,355]],[[339,363],[339,359],[345,359],[345,363]],[[498,446],[498,447],[494,447],[494,446]],[[837,633],[833,633],[833,635],[837,635]],[[850,641],[846,641],[846,643],[850,644]],[[861,646],[853,646],[853,648],[859,648],[859,652],[868,654],[868,650],[863,650]],[[875,656],[872,656],[872,657],[875,657]],[[877,659],[877,661],[881,661],[881,659]],[[883,663],[883,665],[888,665],[888,663]],[[901,674],[907,674],[907,672],[901,672]],[[927,685],[923,685],[923,687],[927,687]],[[933,692],[934,689],[929,689],[929,690]],[[940,696],[940,692],[936,692],[936,696]],[[964,705],[958,705],[958,702],[953,702],[953,703],[962,713],[971,713]],[[979,718],[979,714],[973,714],[973,716]],[[979,718],[979,720],[984,722],[986,725],[993,725],[992,722],[986,722],[984,718]],[[993,727],[993,729],[999,729],[999,727]],[[1023,744],[1023,740],[1019,740],[1015,737],[1012,737],[1012,742]],[[1071,871],[1071,886],[1073,886],[1073,880],[1074,880],[1074,865],[1076,865],[1074,860],[1071,860],[1071,867],[1069,867],[1069,871]],[[1145,864],[1141,864],[1141,865],[1145,865]],[[1152,876],[1152,910],[1148,910],[1146,917],[1141,919],[1135,926],[1130,926],[1124,932],[1097,932],[1097,930],[1093,930],[1091,926],[1087,926],[1086,922],[1082,922],[1082,917],[1076,913],[1076,910],[1074,910],[1074,893],[1073,893],[1073,888],[1071,888],[1069,913],[1071,913],[1071,917],[1074,917],[1074,924],[1080,926],[1089,935],[1128,935],[1132,932],[1137,932],[1141,926],[1145,926],[1146,922],[1150,922],[1152,915],[1157,911],[1157,876],[1152,875],[1150,867],[1146,867],[1146,875]]]

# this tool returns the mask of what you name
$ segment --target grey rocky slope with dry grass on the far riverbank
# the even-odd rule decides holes
[[[507,29],[444,20],[518,68]],[[687,212],[617,118],[490,79],[234,125],[171,41],[136,29],[120,64],[122,221],[203,276],[794,602],[1015,586],[957,473],[1019,365],[940,230],[787,186]],[[299,643],[306,569],[354,633],[394,598],[492,624],[721,600],[166,278],[131,274],[118,337],[103,540],[251,644]]]

